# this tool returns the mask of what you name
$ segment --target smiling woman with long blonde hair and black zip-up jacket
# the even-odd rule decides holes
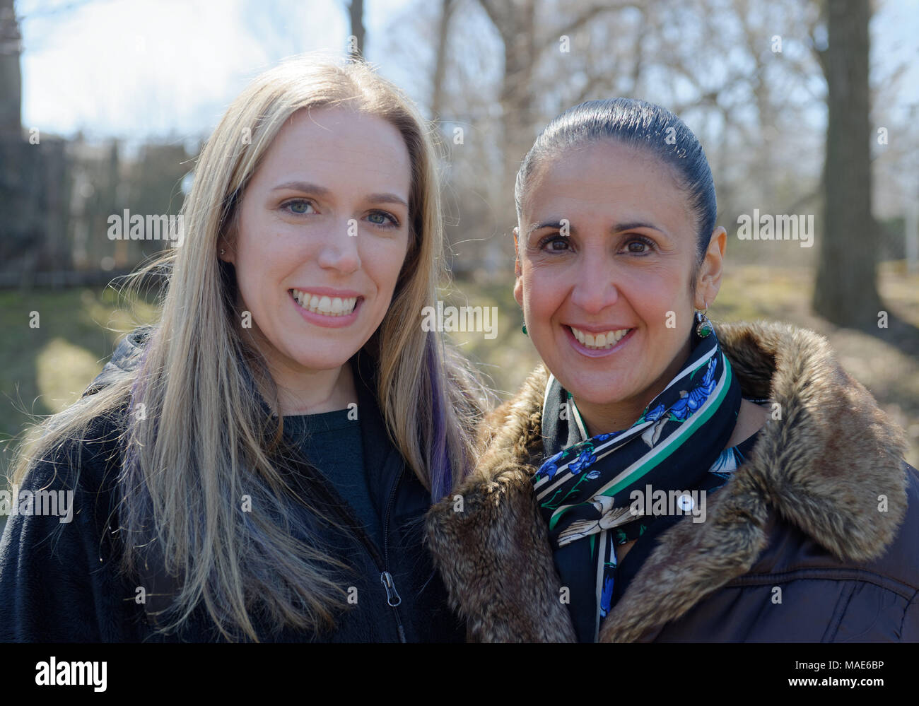
[[[159,323],[17,461],[74,491],[0,544],[6,641],[448,641],[422,547],[482,388],[420,312],[424,120],[360,63],[258,77],[204,148]]]

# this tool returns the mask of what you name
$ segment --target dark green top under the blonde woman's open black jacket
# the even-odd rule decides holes
[[[360,423],[348,419],[349,413],[336,409],[318,415],[285,416],[284,428],[297,439],[303,455],[345,498],[357,522],[382,552],[382,522],[367,484]]]

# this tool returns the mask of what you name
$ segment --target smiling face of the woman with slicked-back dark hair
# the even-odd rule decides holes
[[[531,176],[514,296],[588,426],[612,426],[592,433],[629,427],[685,362],[693,310],[718,292],[726,239],[717,229],[690,292],[695,229],[671,168],[620,142],[591,142]]]

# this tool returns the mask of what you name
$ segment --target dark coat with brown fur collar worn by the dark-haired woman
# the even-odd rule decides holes
[[[919,474],[902,430],[822,336],[761,322],[716,332],[743,395],[781,416],[706,521],[661,535],[600,641],[919,641]],[[574,640],[529,480],[548,374],[540,365],[486,418],[475,471],[427,515],[471,641]]]

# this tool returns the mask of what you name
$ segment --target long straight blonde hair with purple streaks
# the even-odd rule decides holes
[[[241,518],[243,495],[253,507],[277,508],[291,493],[278,461],[281,417],[266,414],[277,391],[271,387],[267,402],[253,393],[254,379],[270,377],[242,335],[232,267],[217,257],[236,202],[285,121],[301,108],[332,105],[389,121],[412,165],[408,252],[390,309],[364,347],[378,368],[380,412],[433,500],[471,468],[473,429],[491,398],[443,334],[420,325],[446,274],[437,153],[425,120],[366,64],[314,56],[282,63],[236,98],[200,154],[182,207],[183,244],[137,275],[164,266],[168,275],[142,363],[46,420],[14,471],[21,478],[34,461],[83,438],[96,417],[119,416],[121,568],[137,575],[147,557],[142,543],[157,545],[165,570],[181,578],[168,630],[203,601],[226,639],[266,636],[256,631],[256,606],[269,631],[319,634],[334,627],[335,610],[345,606],[343,588],[330,577],[344,565],[339,559],[295,539],[283,513]],[[141,542],[144,531],[150,536]]]

